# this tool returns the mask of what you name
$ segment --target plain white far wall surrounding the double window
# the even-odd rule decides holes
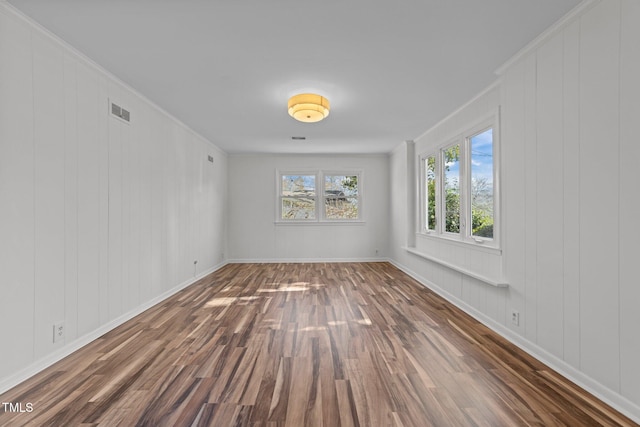
[[[276,224],[276,170],[298,169],[362,171],[364,223]],[[388,202],[387,155],[230,155],[229,259],[382,258],[388,247]]]

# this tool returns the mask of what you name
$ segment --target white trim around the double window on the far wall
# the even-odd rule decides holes
[[[316,189],[315,189],[315,218],[311,219],[283,219],[282,218],[282,176],[283,175],[313,175],[315,176]],[[358,218],[356,219],[340,219],[340,218],[326,218],[324,209],[325,189],[324,178],[325,176],[345,175],[345,176],[357,176],[358,177]],[[282,169],[276,170],[276,220],[278,225],[348,225],[348,224],[363,224],[364,221],[364,184],[363,184],[364,172],[361,169],[340,169],[340,170],[328,170],[328,169]]]

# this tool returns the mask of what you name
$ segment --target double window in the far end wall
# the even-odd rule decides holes
[[[359,172],[279,172],[278,176],[279,222],[361,219]]]

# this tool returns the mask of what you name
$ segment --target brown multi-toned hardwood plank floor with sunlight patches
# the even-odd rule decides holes
[[[3,426],[632,426],[388,263],[230,264],[1,402]]]

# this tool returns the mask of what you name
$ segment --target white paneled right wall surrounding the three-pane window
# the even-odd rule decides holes
[[[592,6],[509,63],[499,96],[490,91],[427,134],[445,135],[482,104],[501,105],[499,258],[510,287],[495,289],[407,254],[402,226],[392,228],[391,256],[640,421],[640,3]],[[404,152],[399,147],[391,157],[392,194],[405,186]],[[392,223],[405,218],[392,210]],[[481,273],[485,261],[467,253],[458,262],[479,262]],[[511,309],[520,312],[519,326],[508,319]]]

